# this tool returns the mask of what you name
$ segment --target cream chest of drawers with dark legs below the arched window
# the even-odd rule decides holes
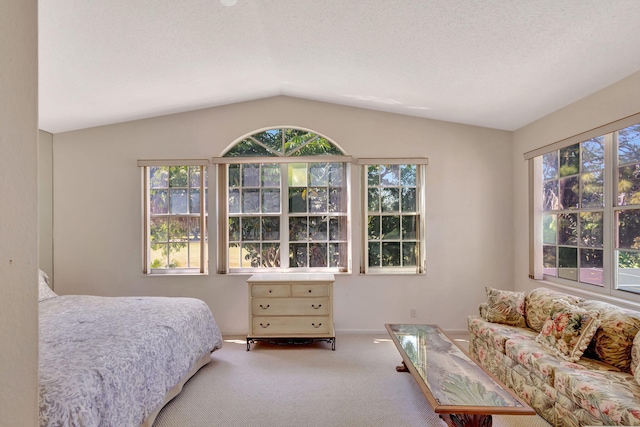
[[[254,274],[249,286],[247,350],[256,341],[326,341],[335,350],[333,274]]]

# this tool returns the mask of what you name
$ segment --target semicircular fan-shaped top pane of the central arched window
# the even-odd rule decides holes
[[[333,142],[305,129],[274,128],[254,133],[231,147],[223,157],[343,156]]]

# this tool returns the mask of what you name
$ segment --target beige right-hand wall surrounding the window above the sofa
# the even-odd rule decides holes
[[[638,112],[640,112],[640,72],[514,132],[513,235],[516,289],[530,290],[541,285],[540,282],[528,278],[529,199],[527,163],[523,154]],[[546,283],[546,285],[550,284]],[[594,297],[594,295],[585,295]]]

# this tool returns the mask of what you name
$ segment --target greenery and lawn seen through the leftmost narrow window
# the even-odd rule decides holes
[[[206,166],[152,164],[144,176],[145,272],[206,272]]]

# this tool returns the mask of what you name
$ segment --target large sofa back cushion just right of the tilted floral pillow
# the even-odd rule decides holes
[[[635,336],[640,331],[640,313],[602,301],[588,300],[578,305],[587,310],[600,312],[600,327],[587,353],[621,371],[631,373],[631,348]]]

